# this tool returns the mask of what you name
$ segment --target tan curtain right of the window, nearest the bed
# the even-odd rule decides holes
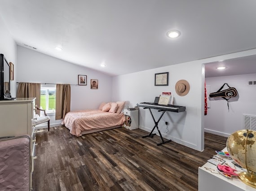
[[[64,119],[70,112],[70,84],[56,84],[56,114],[55,120]]]

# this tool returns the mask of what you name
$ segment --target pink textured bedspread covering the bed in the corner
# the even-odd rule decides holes
[[[83,130],[100,129],[124,124],[124,113],[109,113],[102,110],[69,112],[62,122],[72,135],[81,136]]]

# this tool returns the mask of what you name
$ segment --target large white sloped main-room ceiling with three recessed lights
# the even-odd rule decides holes
[[[120,75],[256,48],[255,8],[255,0],[1,0],[0,16],[19,45]],[[168,39],[169,30],[181,36]]]

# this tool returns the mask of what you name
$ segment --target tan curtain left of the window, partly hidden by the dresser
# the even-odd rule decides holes
[[[17,97],[32,98],[35,97],[35,104],[40,108],[40,83],[20,82],[17,90]],[[40,115],[40,111],[36,111]]]

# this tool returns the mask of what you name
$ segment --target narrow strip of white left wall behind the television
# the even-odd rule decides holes
[[[12,97],[16,97],[16,79],[18,74],[17,46],[1,16],[0,26],[0,54],[4,54],[4,57],[7,59],[7,61],[12,62],[14,65],[14,80],[10,83],[10,91]]]

